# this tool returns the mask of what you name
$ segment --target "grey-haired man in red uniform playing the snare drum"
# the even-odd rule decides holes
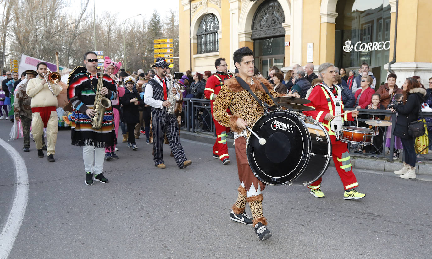
[[[336,116],[343,113],[343,103],[341,101],[340,88],[333,85],[337,71],[331,63],[323,63],[318,69],[322,84],[316,85],[309,95],[309,104],[315,108],[315,111],[304,111],[303,114],[313,117],[323,124],[327,129],[332,144],[332,156],[336,166],[336,171],[342,180],[345,192],[343,199],[361,199],[365,197],[364,193],[359,193],[356,188],[359,186],[356,176],[351,168],[351,161],[347,144],[339,140],[342,133],[343,121],[352,121],[357,117],[359,111],[353,111],[349,114]],[[310,193],[315,197],[324,198],[324,193],[321,191],[321,177],[309,186]]]

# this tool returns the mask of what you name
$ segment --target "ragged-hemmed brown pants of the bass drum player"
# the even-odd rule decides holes
[[[245,184],[246,190],[251,189],[252,183],[255,190],[258,190],[258,185],[261,191],[264,190],[266,184],[255,177],[249,166],[248,156],[246,155],[246,139],[244,137],[235,139],[235,155],[237,156],[238,179],[240,183],[243,182]]]

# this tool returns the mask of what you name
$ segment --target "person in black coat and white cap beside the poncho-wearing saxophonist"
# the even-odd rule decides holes
[[[124,84],[126,85],[126,91],[124,91],[123,97],[120,98],[120,103],[123,105],[122,121],[127,123],[127,130],[129,131],[127,146],[133,150],[137,150],[138,147],[135,142],[134,130],[135,124],[140,122],[138,106],[143,107],[144,101],[138,92],[133,91],[135,81],[131,76],[125,78]]]

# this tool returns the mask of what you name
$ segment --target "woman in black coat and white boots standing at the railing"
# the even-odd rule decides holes
[[[402,86],[403,101],[399,104],[394,104],[392,110],[399,114],[396,118],[396,126],[393,134],[400,137],[403,146],[404,163],[402,169],[394,171],[395,174],[400,174],[403,179],[416,178],[416,151],[414,149],[415,139],[408,134],[408,123],[419,118],[419,110],[421,108],[426,89],[417,82],[416,79],[409,77],[405,80]]]

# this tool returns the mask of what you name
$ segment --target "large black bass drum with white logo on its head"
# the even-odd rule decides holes
[[[252,130],[266,140],[260,145],[251,134],[246,148],[251,170],[262,182],[309,185],[327,170],[330,137],[311,117],[276,110],[258,119]]]

